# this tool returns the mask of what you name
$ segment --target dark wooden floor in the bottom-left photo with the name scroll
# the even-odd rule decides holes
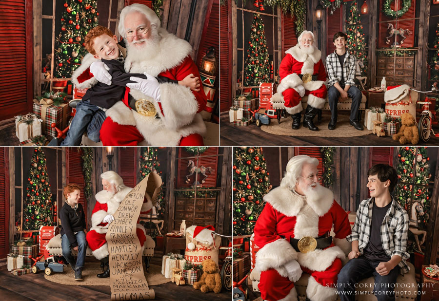
[[[87,262],[89,259],[87,258]],[[73,281],[73,279],[72,279]],[[180,285],[169,282],[151,286],[158,301],[230,301],[232,293],[222,290],[220,294],[203,294],[192,285]],[[44,273],[14,276],[7,266],[0,267],[0,296],[2,301],[41,300],[109,300],[109,286],[63,285],[44,279]]]

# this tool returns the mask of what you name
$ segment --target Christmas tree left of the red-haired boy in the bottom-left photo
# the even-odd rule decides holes
[[[47,175],[46,156],[35,148],[29,169],[26,199],[23,204],[23,230],[38,230],[53,224],[52,193]]]

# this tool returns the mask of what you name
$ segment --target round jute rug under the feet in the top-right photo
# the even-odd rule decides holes
[[[349,116],[347,115],[339,115],[336,129],[331,131],[328,129],[330,119],[330,115],[323,115],[321,122],[318,124],[317,117],[314,117],[314,124],[319,127],[319,131],[316,132],[303,127],[303,115],[302,119],[300,120],[301,122],[299,130],[291,129],[293,120],[290,116],[280,119],[280,124],[278,124],[277,119],[271,119],[270,125],[262,125],[260,128],[264,132],[281,136],[359,137],[372,133],[372,131],[369,131],[366,128],[364,128],[363,131],[356,130],[349,124]]]

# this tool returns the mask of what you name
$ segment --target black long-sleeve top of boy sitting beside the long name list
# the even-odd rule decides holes
[[[60,210],[61,219],[61,236],[67,235],[72,247],[78,246],[76,241],[75,232],[82,231],[86,228],[85,214],[81,204],[78,204],[76,210],[72,208],[67,202],[64,202]]]

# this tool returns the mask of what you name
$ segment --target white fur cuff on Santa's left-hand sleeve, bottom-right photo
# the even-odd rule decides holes
[[[289,261],[297,260],[298,252],[284,239],[275,240],[264,245],[256,253],[255,268],[259,271],[266,271],[270,268],[277,269],[280,276],[283,265]]]

